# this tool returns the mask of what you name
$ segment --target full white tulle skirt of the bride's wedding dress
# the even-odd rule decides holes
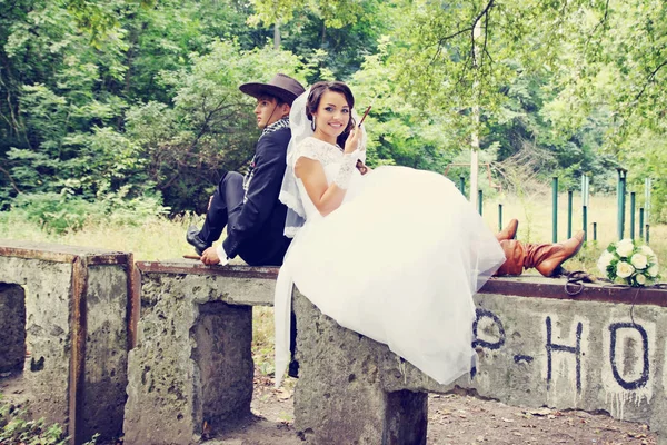
[[[289,358],[293,281],[341,326],[452,382],[470,368],[472,294],[505,260],[498,241],[438,174],[380,167],[348,197],[308,221],[286,255],[276,294],[277,380]]]

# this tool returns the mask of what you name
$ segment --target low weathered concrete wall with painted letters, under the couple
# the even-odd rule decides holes
[[[24,300],[32,357],[23,378],[38,415],[76,426],[77,439],[110,434],[111,424],[119,431],[128,344],[136,347],[126,443],[197,443],[207,428],[223,429],[249,413],[251,306],[271,304],[276,268],[140,263],[128,301],[119,257],[36,249],[0,243],[0,305],[20,312]],[[296,293],[297,428],[317,444],[421,444],[426,393],[457,385],[512,405],[645,422],[667,444],[667,291],[564,285],[541,277],[489,281],[475,297],[477,366],[450,386],[341,328]],[[23,322],[0,323],[16,332]],[[16,349],[9,356],[21,355],[20,335],[4,338]]]

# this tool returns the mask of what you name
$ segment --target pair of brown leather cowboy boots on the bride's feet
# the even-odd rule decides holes
[[[554,276],[560,265],[574,257],[584,244],[584,230],[579,230],[567,241],[558,244],[527,244],[517,240],[501,240],[505,263],[498,275],[521,275],[524,269],[535,267],[545,277]]]

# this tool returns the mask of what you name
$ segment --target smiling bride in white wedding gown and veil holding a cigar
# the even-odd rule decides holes
[[[469,372],[472,294],[505,255],[444,176],[357,168],[365,147],[354,106],[347,85],[318,82],[290,112],[280,200],[295,239],[276,286],[277,385],[290,358],[292,284],[339,325],[448,384]]]

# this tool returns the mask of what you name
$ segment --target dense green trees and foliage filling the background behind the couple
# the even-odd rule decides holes
[[[667,220],[666,14],[660,0],[0,0],[0,209],[46,194],[201,211],[257,138],[238,85],[282,71],[348,80],[374,106],[371,165],[444,171],[477,134],[498,172],[530,152],[529,175],[567,188],[590,175],[611,191],[616,167],[636,189],[653,177]]]

